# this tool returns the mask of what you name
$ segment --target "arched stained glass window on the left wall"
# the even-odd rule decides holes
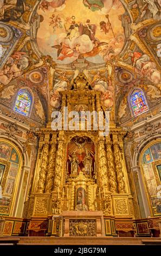
[[[27,89],[22,89],[18,92],[14,110],[20,114],[29,115],[32,98]]]

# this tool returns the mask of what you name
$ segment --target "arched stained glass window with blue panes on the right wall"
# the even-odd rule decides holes
[[[135,88],[130,92],[128,95],[128,103],[131,114],[134,117],[149,110],[145,93],[140,88]]]

